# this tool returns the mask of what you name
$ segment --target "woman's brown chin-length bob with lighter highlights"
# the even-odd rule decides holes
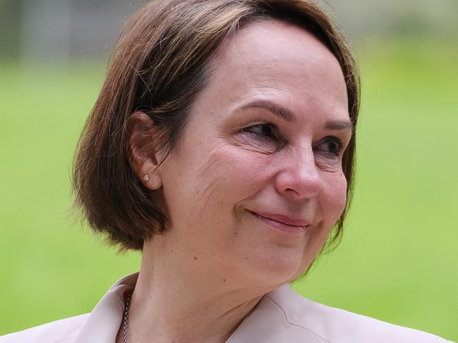
[[[166,157],[185,130],[189,108],[206,86],[217,51],[240,27],[276,19],[311,32],[338,59],[345,77],[348,111],[356,127],[359,73],[345,39],[309,0],[166,0],[144,6],[126,23],[111,56],[106,80],[80,136],[73,169],[75,203],[95,232],[121,251],[166,230],[166,216],[152,204],[159,189],[142,185],[130,166],[129,118],[145,113],[157,131],[151,147]],[[352,197],[355,139],[342,157],[347,205],[326,246],[340,241]],[[149,145],[149,144],[148,144]],[[147,148],[147,147],[146,147]]]

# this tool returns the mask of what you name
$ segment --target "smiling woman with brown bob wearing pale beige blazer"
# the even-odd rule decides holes
[[[358,108],[352,56],[309,1],[148,4],[74,175],[78,208],[142,250],[140,273],[0,342],[445,342],[287,286],[342,230]]]

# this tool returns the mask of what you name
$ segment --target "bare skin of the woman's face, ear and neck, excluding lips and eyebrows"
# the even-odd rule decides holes
[[[264,294],[309,266],[345,207],[342,152],[352,132],[326,127],[349,124],[333,54],[276,20],[243,27],[220,52],[177,151],[156,168],[160,151],[132,149],[132,168],[150,175],[144,185],[161,192],[169,221],[144,244],[130,342],[225,342]],[[151,125],[142,113],[132,120],[135,132]],[[309,225],[284,232],[249,211]]]

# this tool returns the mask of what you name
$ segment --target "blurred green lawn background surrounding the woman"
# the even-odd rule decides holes
[[[78,135],[140,2],[0,1],[0,335],[89,312],[139,268],[68,209]],[[458,340],[458,1],[329,7],[361,65],[357,187],[342,243],[293,287]]]

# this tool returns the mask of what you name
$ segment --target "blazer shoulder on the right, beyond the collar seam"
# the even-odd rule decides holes
[[[278,311],[291,328],[306,330],[316,342],[403,342],[445,343],[426,332],[404,328],[357,313],[318,304],[285,285],[266,294],[266,302]]]

